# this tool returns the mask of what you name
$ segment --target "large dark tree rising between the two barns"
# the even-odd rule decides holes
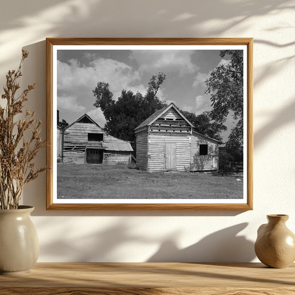
[[[98,82],[92,91],[96,97],[93,105],[100,107],[104,114],[104,130],[114,137],[135,142],[133,130],[156,110],[167,105],[157,97],[164,80],[165,74],[159,72],[151,77],[145,96],[123,89],[117,101],[113,99],[109,83]]]

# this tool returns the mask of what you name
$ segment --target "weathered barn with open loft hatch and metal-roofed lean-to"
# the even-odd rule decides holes
[[[130,161],[130,142],[108,135],[87,114],[63,129],[63,162],[117,164]]]

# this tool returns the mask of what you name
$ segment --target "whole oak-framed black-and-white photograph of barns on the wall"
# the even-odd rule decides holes
[[[49,210],[252,210],[253,38],[47,38]]]

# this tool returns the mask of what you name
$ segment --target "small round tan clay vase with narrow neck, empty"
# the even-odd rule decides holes
[[[267,224],[257,231],[255,253],[266,266],[273,268],[288,267],[295,260],[295,235],[288,227],[288,215],[267,215]]]

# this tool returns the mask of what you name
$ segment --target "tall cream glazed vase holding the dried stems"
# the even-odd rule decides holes
[[[30,272],[39,256],[37,231],[30,213],[31,206],[0,209],[0,274]]]

